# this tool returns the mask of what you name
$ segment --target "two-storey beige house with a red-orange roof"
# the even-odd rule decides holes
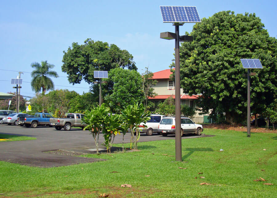
[[[175,99],[175,81],[171,80],[169,77],[172,74],[170,69],[163,71],[158,71],[153,73],[153,79],[157,80],[157,84],[153,85],[154,92],[157,94],[154,97],[149,97],[148,100],[159,103],[163,102],[165,99],[172,97]],[[186,104],[187,106],[195,109],[198,108],[196,101],[199,99],[200,95],[188,95],[183,93],[183,89],[180,89],[180,99],[181,105]],[[195,117],[191,118],[196,123],[204,123],[204,117],[207,119],[207,115],[199,115],[200,111],[196,111]]]

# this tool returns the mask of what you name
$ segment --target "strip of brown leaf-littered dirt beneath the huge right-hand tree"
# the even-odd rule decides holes
[[[241,124],[229,125],[229,124],[207,124],[203,125],[203,128],[212,128],[212,129],[223,129],[223,130],[233,130],[233,131],[247,131],[247,126]],[[271,129],[263,127],[253,127],[251,126],[252,133],[277,133],[277,130],[273,131]]]

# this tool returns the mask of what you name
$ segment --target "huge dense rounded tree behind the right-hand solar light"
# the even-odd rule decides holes
[[[188,34],[188,33],[187,33]],[[251,110],[261,113],[277,92],[277,42],[255,14],[222,11],[193,27],[194,41],[180,47],[181,87],[202,93],[199,107],[224,114],[228,123],[245,120],[247,78],[240,59],[260,59],[263,69],[251,69]]]

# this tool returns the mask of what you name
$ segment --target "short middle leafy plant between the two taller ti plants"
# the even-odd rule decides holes
[[[105,141],[102,145],[104,145],[107,148],[107,153],[110,153],[110,148],[114,143],[115,135],[120,135],[120,132],[118,130],[121,125],[120,123],[120,115],[118,114],[112,115],[111,113],[110,116],[108,116],[106,119],[106,124],[102,131],[102,133],[104,134]]]

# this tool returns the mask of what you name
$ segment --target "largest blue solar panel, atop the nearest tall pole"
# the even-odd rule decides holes
[[[195,6],[160,6],[163,22],[201,22]]]

